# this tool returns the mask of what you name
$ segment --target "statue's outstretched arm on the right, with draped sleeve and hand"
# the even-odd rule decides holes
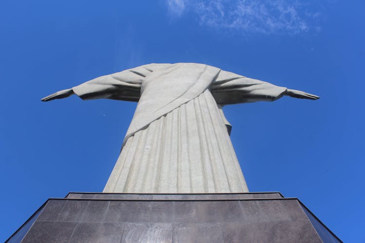
[[[257,79],[221,70],[210,90],[218,104],[274,101],[282,96],[317,100],[318,96],[299,90],[279,87]]]

